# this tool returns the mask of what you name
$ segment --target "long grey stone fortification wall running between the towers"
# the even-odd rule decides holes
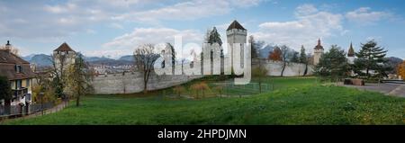
[[[252,61],[253,67],[257,67],[257,61]],[[283,69],[283,62],[263,60],[262,64],[268,70],[268,76],[280,76]],[[181,68],[181,66],[176,66]],[[184,72],[190,73],[192,69],[184,64]],[[220,68],[220,67],[214,67]],[[308,66],[307,75],[312,75],[313,66]],[[199,70],[201,71],[201,70]],[[284,70],[284,76],[302,76],[305,71],[304,64],[289,63]],[[148,81],[148,90],[163,89],[175,85],[187,83],[202,76],[170,75],[157,76],[151,73]],[[143,91],[143,75],[140,72],[125,74],[114,74],[106,76],[94,76],[93,80],[95,94],[129,94]]]

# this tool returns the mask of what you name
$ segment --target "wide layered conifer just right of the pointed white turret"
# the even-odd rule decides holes
[[[369,40],[367,43],[362,43],[362,48],[356,53],[355,72],[359,76],[364,76],[366,79],[371,77],[382,78],[387,76],[386,67],[387,59],[385,58],[387,50],[377,45],[374,40]],[[372,73],[374,73],[372,75]]]

